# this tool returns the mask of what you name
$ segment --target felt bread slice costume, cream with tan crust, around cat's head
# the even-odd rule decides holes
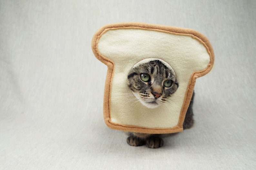
[[[158,134],[182,131],[196,78],[207,74],[214,62],[212,45],[200,32],[140,22],[103,26],[94,34],[92,49],[95,57],[108,66],[104,121],[109,128],[123,131]],[[153,59],[170,65],[179,81],[179,88],[170,97],[175,104],[169,103],[169,108],[147,108],[120,97],[131,93],[127,86],[129,70]]]

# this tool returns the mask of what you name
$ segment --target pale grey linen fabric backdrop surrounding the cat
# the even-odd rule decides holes
[[[0,1],[0,169],[256,169],[255,1]],[[94,32],[115,22],[191,28],[211,42],[195,124],[159,149],[103,121]]]

